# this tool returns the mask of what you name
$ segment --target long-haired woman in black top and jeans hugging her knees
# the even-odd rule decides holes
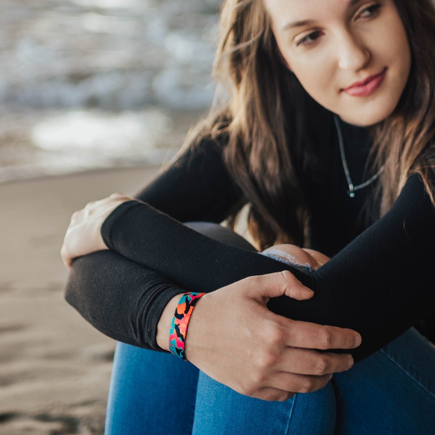
[[[431,430],[434,349],[410,327],[435,305],[434,25],[429,0],[223,4],[215,73],[227,106],[140,201],[89,204],[65,238],[67,265],[93,252],[74,261],[67,301],[127,343],[107,433]],[[282,261],[181,224],[234,228],[246,203],[258,248],[331,260],[279,274]],[[188,365],[149,350],[168,349],[185,291],[207,292]],[[359,361],[351,370],[342,349]]]

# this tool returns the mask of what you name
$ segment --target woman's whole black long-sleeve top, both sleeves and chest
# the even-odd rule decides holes
[[[365,181],[371,143],[364,127],[340,125],[357,185]],[[365,358],[434,311],[435,212],[413,174],[390,211],[365,228],[358,214],[367,190],[353,198],[346,193],[332,117],[322,159],[328,175],[318,184],[305,183],[311,248],[332,257],[316,271],[300,271],[181,224],[219,223],[242,196],[225,170],[221,147],[204,139],[108,216],[101,234],[110,250],[74,260],[66,300],[104,334],[163,351],[157,323],[174,295],[288,269],[315,295],[308,301],[272,298],[268,308],[294,320],[355,329],[362,344],[350,353],[355,361]]]

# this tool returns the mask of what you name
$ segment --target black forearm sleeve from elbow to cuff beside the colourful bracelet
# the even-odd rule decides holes
[[[164,351],[157,345],[155,319],[169,299],[184,292],[161,274],[117,252],[97,251],[74,260],[65,298],[108,337]]]

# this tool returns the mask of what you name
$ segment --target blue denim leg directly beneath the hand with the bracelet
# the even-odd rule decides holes
[[[261,433],[332,435],[335,420],[335,394],[330,382],[321,390],[271,402],[241,395],[199,372],[194,434],[248,435],[262,428]]]

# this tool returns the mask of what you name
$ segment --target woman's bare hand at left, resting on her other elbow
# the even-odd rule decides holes
[[[111,194],[99,201],[91,201],[71,216],[65,234],[60,256],[67,268],[71,268],[74,258],[94,251],[108,249],[101,237],[101,226],[114,209],[129,198],[120,193]]]

